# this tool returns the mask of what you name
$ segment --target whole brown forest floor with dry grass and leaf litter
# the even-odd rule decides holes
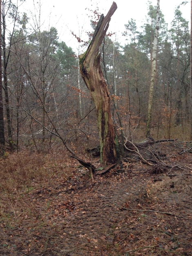
[[[155,166],[127,153],[94,181],[62,146],[7,153],[0,160],[0,255],[191,256],[192,143],[140,152]]]

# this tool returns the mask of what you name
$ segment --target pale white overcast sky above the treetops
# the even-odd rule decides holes
[[[45,29],[54,26],[58,30],[60,40],[63,40],[67,46],[77,49],[76,39],[71,35],[71,31],[77,36],[85,36],[86,31],[90,30],[91,10],[98,7],[100,13],[107,14],[113,0],[26,0],[23,6],[24,11],[31,16],[34,12],[33,2],[38,9],[41,5],[41,22],[44,22]],[[125,38],[121,36],[125,31],[125,24],[131,18],[136,20],[140,27],[147,15],[147,0],[114,0],[117,4],[117,10],[109,24],[108,31],[116,32],[116,39],[123,44]],[[156,5],[156,0],[151,0],[152,5]],[[168,25],[174,18],[175,8],[183,0],[160,0],[160,9],[165,16]],[[37,11],[37,10],[36,10]],[[190,0],[185,6],[181,6],[183,17],[190,20]],[[74,50],[76,50],[74,49]]]

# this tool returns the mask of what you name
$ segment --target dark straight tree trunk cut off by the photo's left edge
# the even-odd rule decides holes
[[[0,35],[1,35],[1,7],[0,0]],[[0,36],[0,144],[5,145],[4,137],[4,119],[3,119],[3,95],[2,95],[2,36]]]

